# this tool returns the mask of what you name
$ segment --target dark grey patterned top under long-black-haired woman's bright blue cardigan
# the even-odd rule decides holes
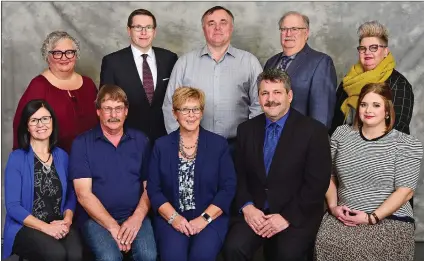
[[[32,215],[50,223],[63,219],[60,211],[62,204],[62,184],[54,162],[49,173],[43,172],[43,164],[34,157],[34,203]]]

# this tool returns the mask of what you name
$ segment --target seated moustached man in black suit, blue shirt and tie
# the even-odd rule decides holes
[[[237,129],[237,213],[224,258],[250,260],[264,244],[267,260],[304,260],[330,184],[327,128],[290,108],[293,92],[286,72],[265,70],[257,83],[265,113]]]

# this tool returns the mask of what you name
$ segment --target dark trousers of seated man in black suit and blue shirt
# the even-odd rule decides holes
[[[318,228],[319,222],[312,222],[303,228],[289,226],[273,237],[265,239],[258,236],[243,217],[239,216],[225,240],[224,260],[252,260],[256,251],[263,245],[267,261],[304,261]]]

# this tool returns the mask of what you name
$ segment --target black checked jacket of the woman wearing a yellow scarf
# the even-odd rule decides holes
[[[412,112],[414,109],[414,92],[408,80],[400,72],[393,70],[392,74],[386,80],[393,95],[393,106],[395,109],[394,129],[410,134],[409,124],[411,123]],[[330,129],[330,135],[338,126],[345,124],[345,116],[340,107],[347,99],[348,95],[343,89],[343,81],[340,83],[336,92],[336,106],[334,108],[333,123]]]

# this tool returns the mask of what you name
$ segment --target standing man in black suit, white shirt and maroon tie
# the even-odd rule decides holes
[[[127,31],[131,45],[103,57],[100,86],[115,84],[125,91],[129,100],[127,126],[144,132],[154,142],[167,134],[162,104],[178,57],[152,46],[156,18],[148,10],[133,11]]]

